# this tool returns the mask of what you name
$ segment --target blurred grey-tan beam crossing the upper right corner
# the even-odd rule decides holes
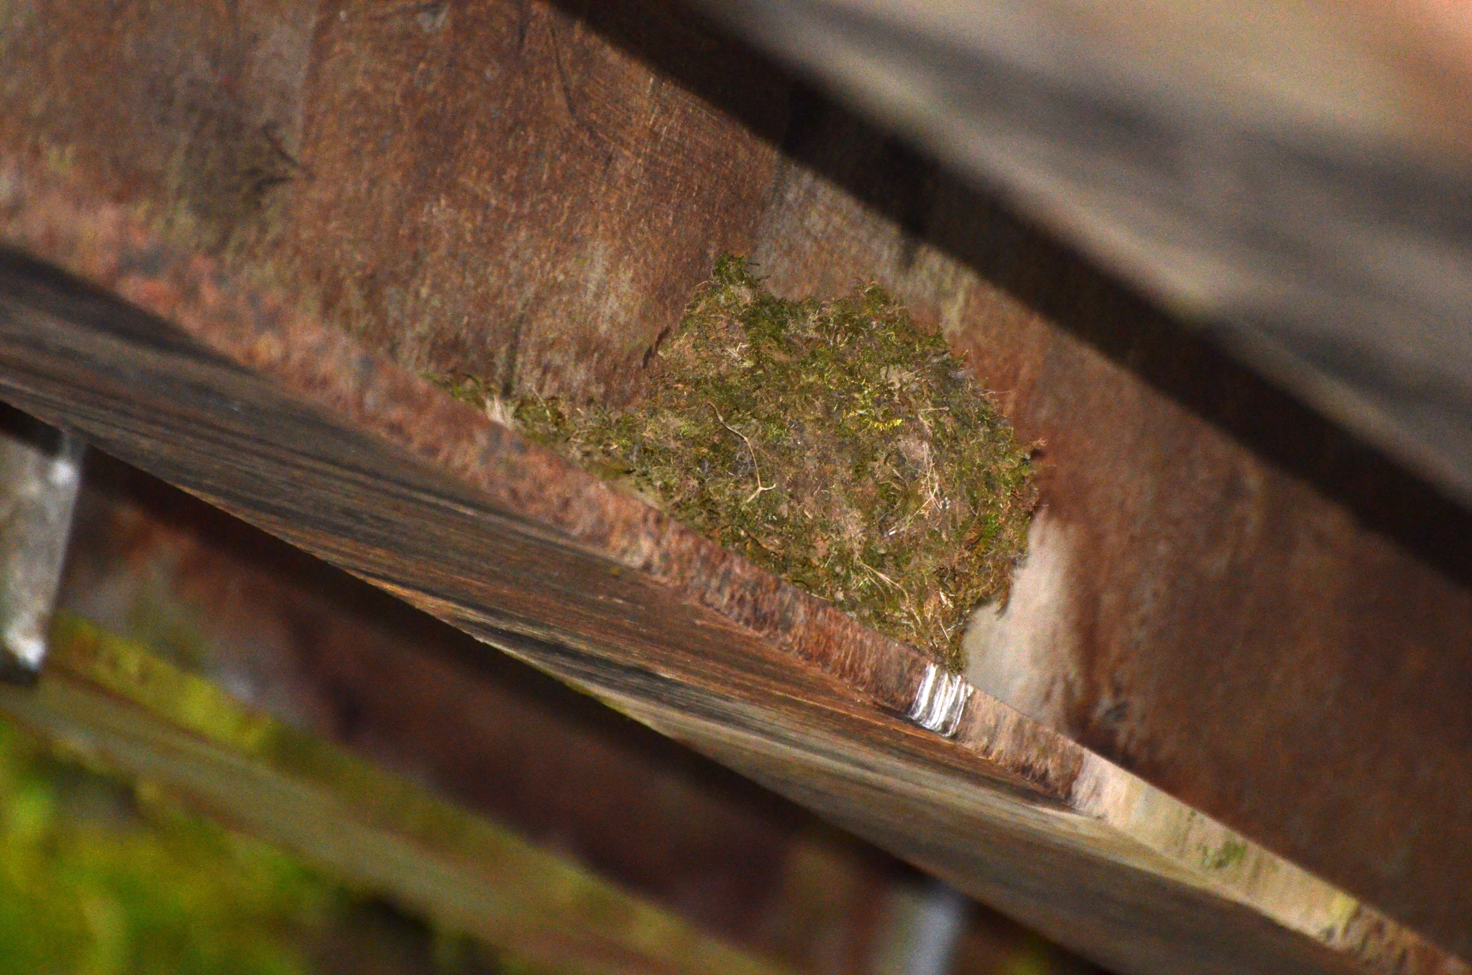
[[[704,3],[1472,501],[1454,4]]]

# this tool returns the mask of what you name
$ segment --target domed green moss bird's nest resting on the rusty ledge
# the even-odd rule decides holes
[[[439,381],[954,670],[1023,551],[1026,449],[877,286],[783,300],[723,258],[630,409]]]

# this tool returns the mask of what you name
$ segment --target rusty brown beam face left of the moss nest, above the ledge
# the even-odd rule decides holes
[[[785,125],[790,80],[689,10],[583,6]],[[517,392],[636,392],[779,162],[543,0],[26,0],[0,35],[12,150],[87,168],[400,365]]]

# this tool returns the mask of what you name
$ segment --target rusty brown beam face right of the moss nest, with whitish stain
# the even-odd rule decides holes
[[[876,277],[1042,445],[977,685],[1472,950],[1472,515],[852,118],[808,138],[771,287]]]

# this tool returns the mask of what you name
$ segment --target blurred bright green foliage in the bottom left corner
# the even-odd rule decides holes
[[[337,890],[0,722],[0,975],[306,975]]]

